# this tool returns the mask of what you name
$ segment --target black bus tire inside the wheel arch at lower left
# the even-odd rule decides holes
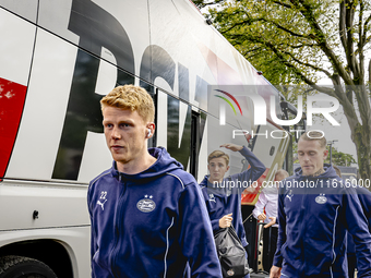
[[[22,256],[0,257],[0,278],[57,278],[40,261]]]

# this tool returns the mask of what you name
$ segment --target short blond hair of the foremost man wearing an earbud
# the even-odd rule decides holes
[[[155,105],[151,95],[142,87],[123,85],[113,88],[100,99],[101,110],[105,107],[118,107],[123,110],[136,111],[145,122],[154,122]]]

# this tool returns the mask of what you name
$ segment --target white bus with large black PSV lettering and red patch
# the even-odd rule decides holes
[[[199,181],[210,149],[231,142],[231,131],[282,130],[270,119],[254,125],[252,112],[238,122],[227,112],[220,132],[208,85],[262,85],[278,107],[279,94],[191,1],[0,0],[0,278],[91,276],[86,192],[111,166],[99,99],[115,86],[152,94],[151,145]],[[262,179],[283,166],[287,145],[250,141],[267,168]],[[230,171],[246,167],[237,156]],[[242,203],[253,205],[256,193]]]

